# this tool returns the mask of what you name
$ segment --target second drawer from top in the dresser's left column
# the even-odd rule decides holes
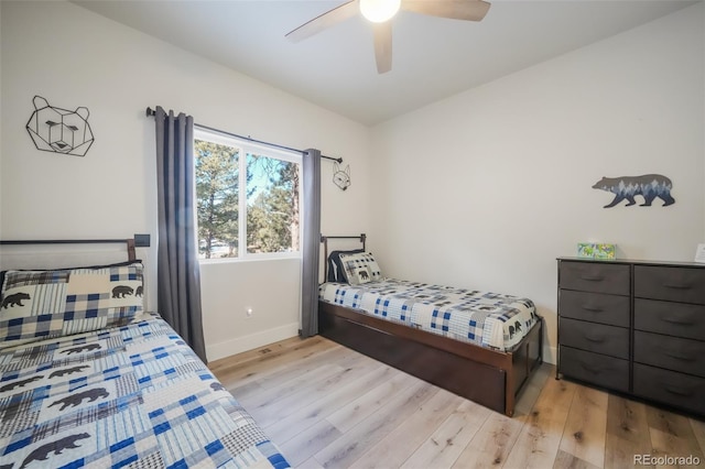
[[[562,290],[558,312],[561,317],[629,327],[629,296]]]

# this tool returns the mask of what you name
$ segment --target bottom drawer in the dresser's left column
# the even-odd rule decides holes
[[[558,372],[615,391],[629,391],[629,362],[570,347],[560,347]]]

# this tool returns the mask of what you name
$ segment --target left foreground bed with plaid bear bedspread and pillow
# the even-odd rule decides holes
[[[289,467],[184,340],[143,312],[143,268],[121,242],[127,262],[2,273],[0,468]]]

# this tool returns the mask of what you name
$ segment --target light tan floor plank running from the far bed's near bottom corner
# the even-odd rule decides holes
[[[453,465],[454,469],[500,468],[509,457],[523,424],[496,412],[490,413],[475,437]]]

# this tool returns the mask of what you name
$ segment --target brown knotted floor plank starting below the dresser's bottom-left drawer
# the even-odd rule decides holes
[[[604,467],[607,405],[607,393],[577,388],[561,438],[561,450],[590,466]]]

